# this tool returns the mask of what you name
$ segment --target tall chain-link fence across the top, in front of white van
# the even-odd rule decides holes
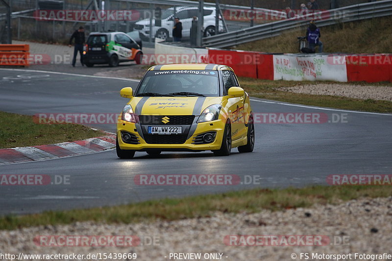
[[[65,44],[68,43],[73,31],[82,25],[87,34],[101,30],[125,33],[133,31],[144,42],[153,43],[154,39],[158,37],[166,41],[180,40],[182,43],[195,45],[198,33],[202,37],[208,37],[216,33],[246,28],[252,23],[263,24],[286,19],[287,7],[299,10],[300,4],[307,5],[308,1],[311,0],[220,0],[218,9],[215,0],[209,0],[210,4],[205,1],[202,28],[199,29],[197,20],[201,15],[198,10],[198,1],[184,0],[174,3],[171,0],[12,0],[12,33],[14,39]],[[342,7],[369,0],[315,1],[318,2],[319,9],[330,9],[333,6]],[[164,2],[168,4],[163,4]],[[255,8],[254,12],[250,12],[249,6],[251,5]],[[4,6],[0,5],[1,13],[4,12],[3,9]],[[58,10],[72,14],[64,16]],[[77,15],[85,10],[90,11],[88,14],[96,12],[96,15],[93,18],[81,18]],[[123,19],[113,18],[108,14],[103,19],[97,18],[97,12],[99,15],[99,12],[103,12],[103,10],[111,10],[115,16],[124,11],[130,11],[131,15],[123,17]],[[50,13],[50,11],[54,12]],[[252,12],[253,15],[249,15]],[[256,15],[254,15],[255,13]],[[261,15],[258,16],[259,14]],[[176,36],[173,37],[173,29],[178,27],[174,20],[176,17],[182,24],[180,39],[178,39],[179,37],[175,38]],[[5,20],[0,20],[0,23],[0,37],[3,37]]]

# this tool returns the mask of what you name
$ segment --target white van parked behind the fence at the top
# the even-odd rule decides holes
[[[215,7],[204,7],[204,37],[215,35]],[[190,37],[192,18],[198,17],[198,8],[192,6],[179,6],[175,8],[175,17],[180,19],[182,23],[182,37]],[[174,26],[174,8],[162,10],[161,26],[155,26],[155,19],[152,19],[152,35],[157,38],[168,40],[172,38],[172,29]],[[150,20],[144,19],[134,24],[134,29],[140,32],[142,40],[149,38]],[[219,31],[223,30],[223,26],[219,23]]]

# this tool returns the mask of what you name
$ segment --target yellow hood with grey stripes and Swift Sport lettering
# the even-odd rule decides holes
[[[200,115],[222,97],[133,97],[128,104],[136,115]]]

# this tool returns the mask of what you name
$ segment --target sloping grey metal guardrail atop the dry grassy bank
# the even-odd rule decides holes
[[[392,0],[382,0],[350,5],[318,13],[318,27],[337,23],[353,22],[363,19],[392,15]],[[282,31],[306,26],[309,20],[297,17],[281,21],[260,24],[245,29],[222,33],[203,38],[203,47],[230,47],[238,44],[278,36]]]

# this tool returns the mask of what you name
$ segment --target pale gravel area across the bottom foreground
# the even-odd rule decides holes
[[[145,238],[154,238],[155,243],[153,246],[134,247],[48,247],[34,243],[34,237],[45,235],[138,236],[142,243]],[[329,237],[331,241],[323,246],[233,246],[223,240],[228,235],[320,235]],[[222,260],[232,261],[289,261],[293,253],[297,255],[295,260],[300,260],[300,253],[392,254],[391,246],[392,197],[361,198],[338,205],[315,205],[276,212],[264,210],[255,214],[215,213],[211,217],[171,222],[76,222],[0,231],[0,253],[136,253],[137,260],[143,261],[173,260],[169,259],[170,253],[223,253]]]

